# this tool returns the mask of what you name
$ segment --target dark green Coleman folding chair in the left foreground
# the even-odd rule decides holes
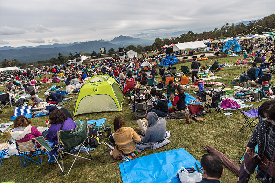
[[[75,124],[77,125],[77,127],[75,129],[72,130],[59,130],[57,132],[57,138],[58,138],[58,144],[55,145],[53,148],[50,147],[50,145],[46,142],[45,138],[43,136],[37,137],[35,138],[36,141],[43,147],[45,148],[47,151],[51,151],[57,147],[59,147],[59,149],[57,150],[58,156],[54,157],[56,163],[58,164],[61,172],[63,173],[63,175],[65,175],[65,170],[64,170],[64,166],[63,166],[63,157],[62,154],[68,154],[71,156],[75,156],[75,160],[77,157],[79,158],[83,158],[85,160],[91,160],[92,156],[90,155],[90,145],[89,145],[89,136],[88,136],[88,131],[89,128],[87,126],[87,120],[86,119],[82,124],[79,120],[75,121]],[[84,142],[87,139],[87,143],[88,143],[88,149],[89,152],[87,151],[87,149],[84,147]],[[61,149],[61,146],[63,146],[63,149]],[[71,154],[70,151],[75,149],[75,147],[79,146],[79,150],[77,151],[77,155],[75,154]],[[79,152],[81,151],[81,149],[84,148],[85,151],[87,152],[87,154],[89,155],[89,158],[84,158],[82,156],[79,156]],[[58,161],[58,158],[60,158],[60,162],[61,165]],[[73,167],[74,162],[71,165],[71,168]],[[71,171],[68,171],[68,174]],[[68,175],[67,174],[67,175]]]

